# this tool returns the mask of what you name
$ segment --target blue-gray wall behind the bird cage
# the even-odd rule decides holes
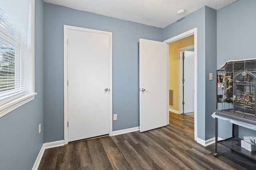
[[[229,60],[256,58],[255,7],[255,0],[239,0],[217,11],[218,69]],[[251,135],[256,131],[239,128],[240,138]]]

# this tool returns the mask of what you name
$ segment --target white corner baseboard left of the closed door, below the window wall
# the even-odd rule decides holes
[[[38,169],[39,164],[40,164],[41,159],[42,159],[43,154],[44,154],[44,150],[46,150],[48,148],[54,148],[54,147],[58,147],[58,146],[63,146],[63,145],[64,145],[64,140],[44,143],[42,145],[41,150],[38,153],[38,156],[36,158],[36,162],[34,163],[34,166],[33,166],[32,170],[37,170]]]

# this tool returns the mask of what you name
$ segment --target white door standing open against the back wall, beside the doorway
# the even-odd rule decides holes
[[[168,44],[140,39],[140,132],[167,125]]]

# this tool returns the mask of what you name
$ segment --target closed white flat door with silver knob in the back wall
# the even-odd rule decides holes
[[[109,134],[110,36],[86,30],[67,34],[68,141]]]

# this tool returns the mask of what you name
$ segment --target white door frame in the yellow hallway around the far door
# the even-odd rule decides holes
[[[183,47],[179,49],[179,114],[182,114],[183,111],[183,105],[182,105],[182,101],[183,99],[183,82],[182,82],[182,77],[183,77],[183,64],[182,64],[182,51],[186,51],[188,49],[192,49],[194,48],[194,45],[190,45],[187,47]]]

